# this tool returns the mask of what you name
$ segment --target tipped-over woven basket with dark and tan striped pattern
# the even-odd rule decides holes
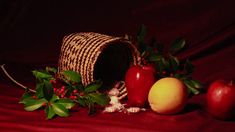
[[[88,85],[101,79],[108,86],[122,80],[130,64],[138,63],[136,47],[121,37],[99,33],[74,33],[65,36],[59,58],[58,75],[64,70],[81,74]]]

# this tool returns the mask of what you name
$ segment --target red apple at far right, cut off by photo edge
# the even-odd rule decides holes
[[[217,80],[207,91],[208,112],[222,120],[235,117],[235,85],[232,82]]]

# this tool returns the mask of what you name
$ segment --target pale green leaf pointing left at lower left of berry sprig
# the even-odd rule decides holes
[[[25,104],[24,109],[26,111],[34,111],[38,108],[40,108],[44,103],[47,103],[47,100],[45,99],[39,99],[39,100],[30,100]]]

